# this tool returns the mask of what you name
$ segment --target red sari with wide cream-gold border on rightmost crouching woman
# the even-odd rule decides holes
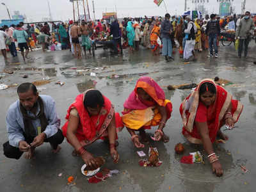
[[[199,98],[199,89],[203,83],[212,83],[216,87],[216,99],[214,104],[206,108]],[[184,127],[182,128],[182,134],[191,143],[200,144],[202,143],[200,134],[196,122],[207,122],[209,129],[209,137],[211,142],[214,143],[218,131],[220,130],[221,124],[224,123],[225,113],[232,104],[232,116],[236,123],[243,111],[243,104],[238,100],[232,99],[232,95],[228,93],[223,87],[217,85],[212,79],[204,79],[198,84],[195,91],[191,93],[183,102],[180,104],[180,115]]]

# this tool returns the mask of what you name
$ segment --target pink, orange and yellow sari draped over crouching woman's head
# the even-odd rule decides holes
[[[150,95],[154,102],[141,99],[138,94],[138,88],[143,88]],[[122,120],[129,129],[139,130],[150,129],[151,126],[159,125],[161,114],[156,106],[166,108],[167,118],[171,117],[172,102],[165,99],[165,95],[160,86],[151,77],[140,77],[136,83],[134,91],[124,103]]]

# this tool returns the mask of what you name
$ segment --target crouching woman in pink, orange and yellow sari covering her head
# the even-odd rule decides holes
[[[122,113],[122,120],[131,134],[135,147],[143,148],[142,143],[148,143],[145,129],[150,129],[151,126],[159,125],[154,140],[163,140],[164,143],[169,141],[163,128],[171,117],[172,103],[165,99],[163,90],[151,77],[138,79],[134,91],[125,100]],[[141,141],[135,131],[140,132]]]

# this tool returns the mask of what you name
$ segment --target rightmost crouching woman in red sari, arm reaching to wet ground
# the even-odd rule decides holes
[[[202,80],[180,105],[184,125],[182,134],[191,143],[204,145],[212,171],[218,177],[223,175],[223,169],[213,151],[212,143],[217,136],[221,140],[228,140],[220,128],[227,125],[232,129],[242,111],[243,105],[232,99],[232,95],[216,85],[212,79]]]

